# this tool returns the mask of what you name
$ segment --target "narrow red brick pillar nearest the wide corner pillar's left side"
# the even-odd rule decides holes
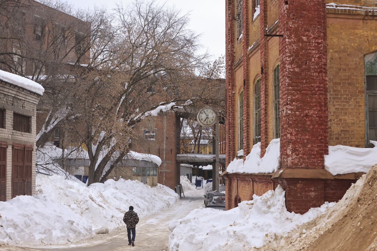
[[[266,1],[266,2],[265,2]],[[268,146],[267,140],[267,108],[268,103],[268,45],[267,37],[264,36],[267,27],[267,0],[259,1],[259,20],[260,20],[260,48],[261,48],[261,157],[264,156]]]

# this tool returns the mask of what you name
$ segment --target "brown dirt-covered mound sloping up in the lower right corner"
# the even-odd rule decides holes
[[[377,250],[376,197],[377,164],[326,213],[258,250]]]

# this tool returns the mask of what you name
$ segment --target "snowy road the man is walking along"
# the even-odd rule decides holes
[[[185,192],[183,198],[169,210],[152,215],[150,218],[140,220],[136,225],[135,246],[128,246],[127,231],[115,236],[110,234],[98,235],[94,239],[85,240],[81,245],[54,246],[49,248],[21,248],[0,246],[0,250],[12,251],[123,251],[123,250],[168,250],[169,224],[171,221],[181,219],[195,208],[204,207],[203,190]]]

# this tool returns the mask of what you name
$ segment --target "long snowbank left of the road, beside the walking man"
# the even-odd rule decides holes
[[[165,186],[151,188],[120,179],[94,183],[36,177],[34,196],[0,202],[0,243],[20,245],[66,244],[91,237],[96,230],[124,227],[130,205],[140,218],[171,207],[179,196]]]

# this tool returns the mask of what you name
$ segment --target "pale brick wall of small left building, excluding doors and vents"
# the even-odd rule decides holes
[[[12,84],[0,81],[0,108],[5,110],[5,128],[0,128],[0,141],[8,145],[6,154],[6,199],[12,198],[12,145],[31,145],[32,154],[32,194],[35,193],[35,125],[39,95]],[[13,130],[13,112],[31,117],[30,133]]]

